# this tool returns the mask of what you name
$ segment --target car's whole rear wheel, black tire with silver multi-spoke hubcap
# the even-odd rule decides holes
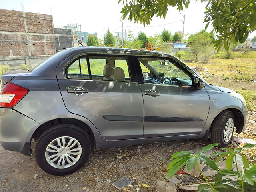
[[[70,124],[46,130],[36,144],[36,162],[52,175],[66,175],[81,168],[90,154],[90,140],[79,127]]]

